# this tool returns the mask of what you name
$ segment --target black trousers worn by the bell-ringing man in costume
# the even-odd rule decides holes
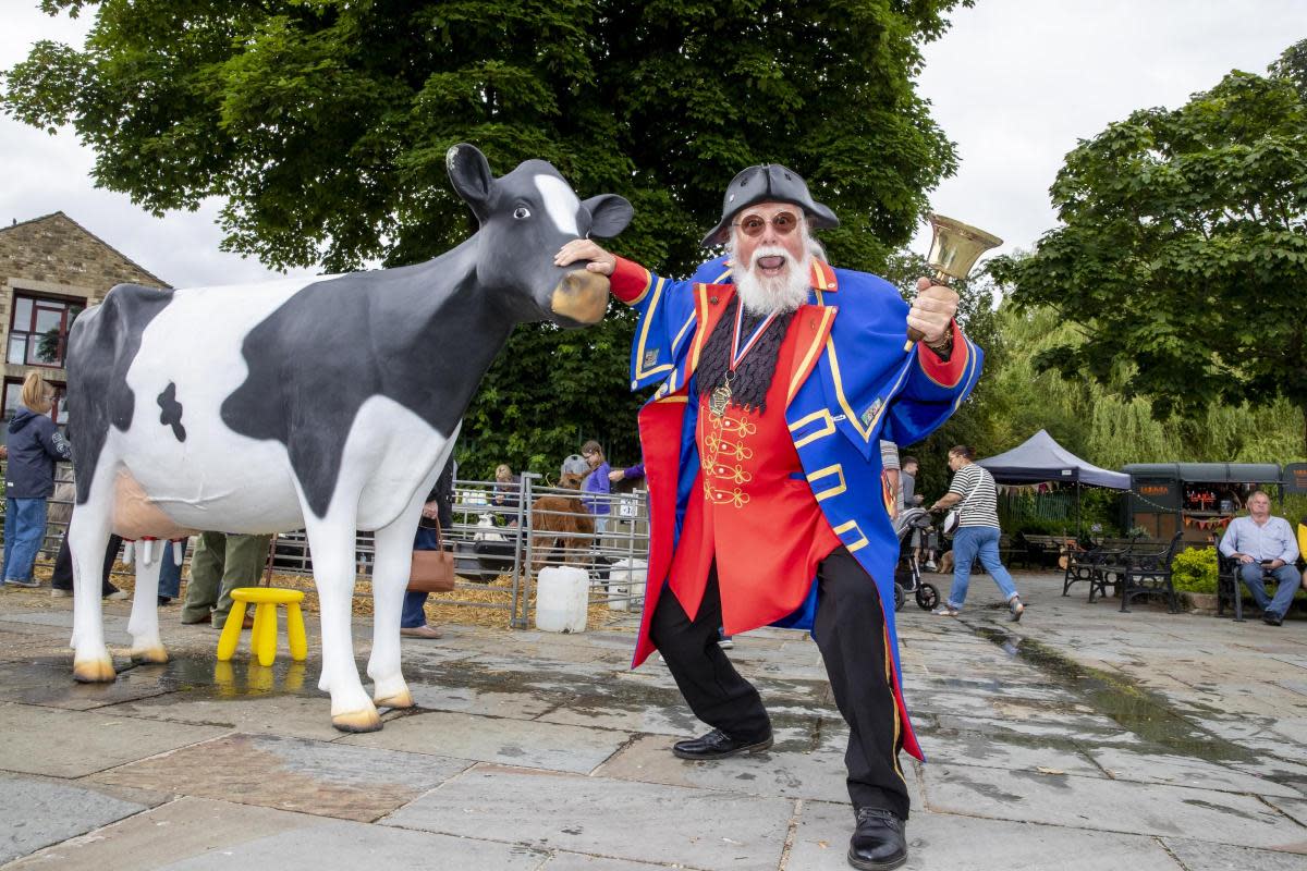
[[[826,663],[835,705],[848,723],[848,797],[855,808],[876,807],[907,819],[907,781],[898,764],[903,723],[890,687],[893,657],[874,581],[840,547],[817,569],[813,639]],[[771,720],[753,684],[740,676],[718,646],[721,592],[716,563],[699,612],[691,620],[664,588],[650,635],[694,716],[732,738],[762,738]]]

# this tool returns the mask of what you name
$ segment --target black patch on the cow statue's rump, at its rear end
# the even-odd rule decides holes
[[[119,285],[84,311],[68,336],[68,436],[77,465],[77,504],[86,501],[108,427],[132,426],[135,397],[127,370],[141,333],[173,302],[171,290]]]

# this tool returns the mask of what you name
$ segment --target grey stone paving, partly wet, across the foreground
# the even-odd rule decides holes
[[[948,578],[936,577],[942,586]],[[1006,622],[974,578],[957,619],[899,615],[929,761],[903,757],[912,870],[1307,871],[1307,620],[1167,614],[1017,573]],[[674,759],[702,731],[634,618],[579,635],[444,627],[404,640],[417,708],[344,735],[320,661],[213,657],[161,614],[173,661],[80,686],[71,603],[0,592],[0,866],[651,871],[847,868],[847,730],[802,633],[736,636],[776,733],[759,756]],[[356,622],[362,673],[370,627]],[[284,642],[284,641],[282,641]]]

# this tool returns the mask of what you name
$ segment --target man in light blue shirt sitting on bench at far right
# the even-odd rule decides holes
[[[1294,565],[1298,560],[1294,530],[1283,517],[1270,516],[1270,496],[1260,490],[1248,496],[1248,516],[1230,521],[1221,538],[1221,552],[1239,562],[1239,577],[1263,609],[1261,619],[1270,626],[1283,623],[1302,577]],[[1266,595],[1263,578],[1268,575],[1278,582],[1274,599]]]

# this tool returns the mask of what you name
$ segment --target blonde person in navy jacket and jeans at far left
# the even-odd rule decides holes
[[[55,492],[55,462],[72,460],[72,447],[50,410],[55,390],[41,372],[22,380],[21,405],[9,420],[9,465],[4,473],[4,568],[12,586],[41,586],[31,569],[46,534],[46,503]]]

